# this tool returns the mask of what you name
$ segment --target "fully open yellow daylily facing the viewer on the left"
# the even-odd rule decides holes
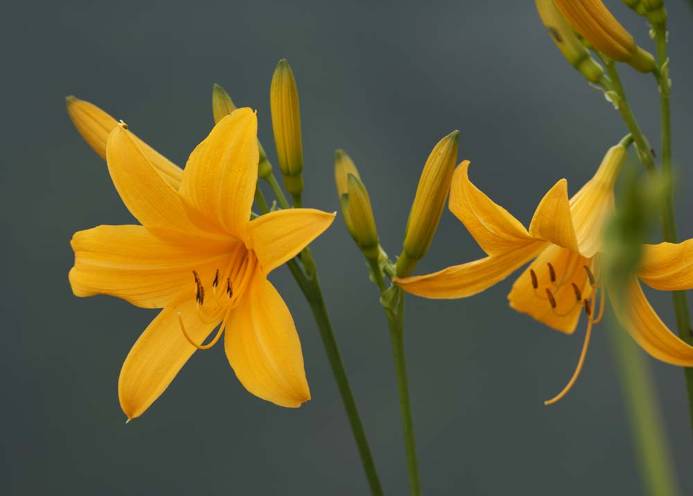
[[[294,322],[267,275],[327,229],[334,214],[291,209],[250,220],[258,174],[254,112],[221,119],[190,155],[179,190],[125,125],[110,133],[105,150],[114,185],[141,225],[76,233],[69,279],[77,296],[110,294],[163,308],[121,370],[128,418],[140,416],[224,330],[229,363],[248,391],[283,407],[309,400]]]

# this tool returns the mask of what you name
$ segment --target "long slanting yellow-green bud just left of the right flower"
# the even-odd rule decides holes
[[[435,145],[423,166],[407,220],[402,254],[397,259],[398,277],[411,274],[430,247],[450,192],[458,145],[459,131],[453,131]]]

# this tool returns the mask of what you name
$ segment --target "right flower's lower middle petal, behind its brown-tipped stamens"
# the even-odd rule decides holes
[[[556,245],[548,246],[515,281],[508,294],[510,307],[551,328],[572,334],[584,299],[592,295],[586,266],[591,269],[591,261],[577,252]],[[579,301],[573,284],[577,287]],[[551,292],[551,296],[546,290]]]

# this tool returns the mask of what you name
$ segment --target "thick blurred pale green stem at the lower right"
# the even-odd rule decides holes
[[[645,494],[679,494],[674,463],[658,408],[657,389],[640,348],[616,325],[608,337],[617,365],[635,452],[640,463]]]

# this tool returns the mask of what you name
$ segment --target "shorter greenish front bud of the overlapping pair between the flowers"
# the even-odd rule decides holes
[[[347,205],[349,222],[356,237],[356,244],[369,260],[378,260],[378,231],[371,208],[371,199],[363,183],[353,174],[347,175]]]

